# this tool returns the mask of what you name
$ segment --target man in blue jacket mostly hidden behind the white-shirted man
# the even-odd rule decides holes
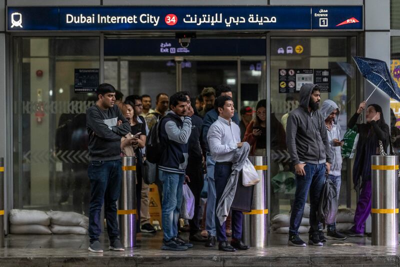
[[[228,96],[232,98],[232,89],[227,85],[220,85],[217,87],[217,96]],[[208,238],[205,242],[205,246],[214,246],[216,240],[216,229],[215,229],[215,181],[214,181],[214,165],[215,161],[212,159],[208,141],[207,133],[208,129],[218,119],[218,113],[215,109],[208,111],[203,118],[202,128],[202,141],[206,151],[206,165],[207,165],[207,209],[205,214],[205,230],[208,232]],[[232,121],[239,125],[239,116],[237,112],[234,112]]]

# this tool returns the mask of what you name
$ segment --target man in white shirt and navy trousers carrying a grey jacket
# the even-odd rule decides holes
[[[240,129],[232,122],[234,106],[232,98],[220,96],[215,99],[214,107],[218,113],[218,119],[210,126],[207,133],[207,141],[212,158],[215,160],[214,179],[216,201],[218,203],[227,180],[232,172],[232,160],[243,143],[240,142]],[[216,212],[215,212],[216,216]],[[225,222],[220,225],[215,218],[216,237],[219,241],[218,249],[222,251],[245,250],[249,247],[241,241],[241,224],[243,214],[241,211],[232,210],[232,240],[230,244],[226,238]]]

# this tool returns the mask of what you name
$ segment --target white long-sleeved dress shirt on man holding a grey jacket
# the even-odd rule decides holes
[[[240,128],[231,119],[218,116],[211,124],[207,140],[212,159],[216,162],[232,162],[237,143],[240,143]]]

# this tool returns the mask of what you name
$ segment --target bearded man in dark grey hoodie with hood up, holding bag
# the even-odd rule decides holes
[[[291,207],[289,245],[305,246],[298,236],[305,201],[310,192],[308,243],[322,245],[318,233],[316,212],[319,197],[329,173],[331,153],[324,125],[324,118],[318,112],[319,87],[305,84],[300,89],[300,105],[290,112],[286,125],[286,144],[296,174],[296,192]],[[322,233],[322,232],[321,232]]]

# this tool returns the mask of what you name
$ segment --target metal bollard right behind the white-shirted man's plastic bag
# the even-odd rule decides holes
[[[250,212],[243,212],[243,242],[255,247],[266,246],[268,224],[266,157],[248,157],[261,179],[254,186]]]

